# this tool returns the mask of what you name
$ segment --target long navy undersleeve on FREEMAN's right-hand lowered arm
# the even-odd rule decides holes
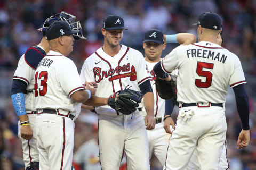
[[[249,130],[249,98],[244,84],[233,87],[236,96],[236,107],[242,122],[243,130]]]

